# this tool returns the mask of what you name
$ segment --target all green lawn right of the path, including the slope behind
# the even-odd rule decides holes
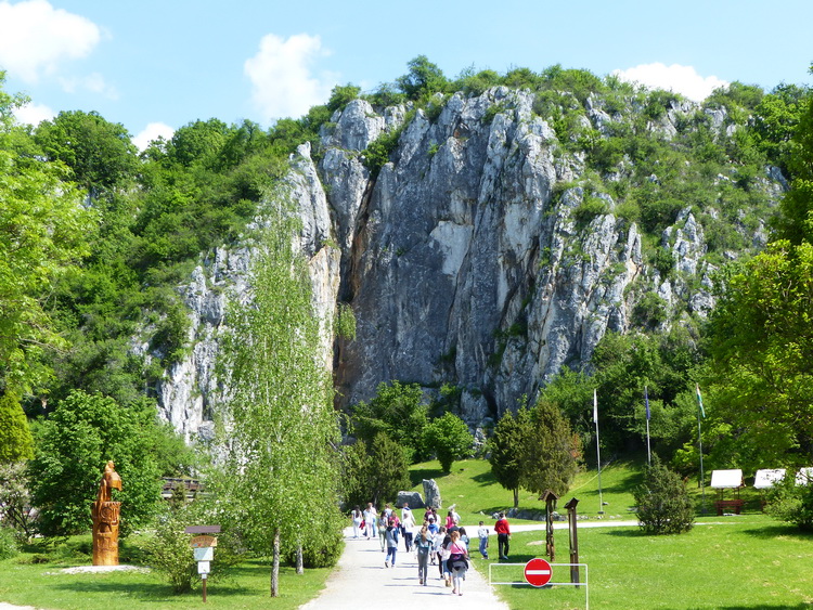
[[[595,470],[581,472],[563,501],[579,499],[580,562],[590,574],[590,607],[610,610],[670,610],[726,608],[730,610],[779,610],[813,608],[813,535],[774,521],[760,510],[759,494],[752,488],[741,491],[746,502],[743,515],[718,517],[715,491],[706,488],[706,509],[697,480],[687,486],[697,507],[697,525],[675,536],[643,535],[637,527],[589,528],[598,518],[605,521],[634,520],[633,489],[641,481],[643,460],[619,460],[602,469],[602,499]],[[513,495],[493,480],[488,462],[455,462],[452,472],[443,473],[437,462],[417,464],[411,469],[413,488],[423,493],[422,479],[435,479],[443,507],[456,503],[466,523],[478,520],[493,525],[490,515],[509,508]],[[710,472],[707,473],[707,485]],[[726,498],[733,497],[726,492]],[[543,510],[535,494],[521,492],[520,509]],[[604,515],[599,516],[599,508]],[[564,514],[564,507],[559,507]],[[527,523],[512,519],[512,523]],[[700,524],[702,523],[702,524]],[[567,530],[556,530],[556,562],[569,562]],[[476,553],[476,541],[473,556]],[[491,543],[496,554],[496,541]],[[545,553],[544,532],[512,536],[509,562],[525,563]],[[475,558],[476,569],[488,577],[488,563]],[[496,568],[500,581],[524,581],[522,566]],[[583,580],[582,575],[582,580]],[[555,567],[553,582],[569,582],[569,567]],[[516,610],[528,608],[572,609],[585,607],[585,589],[555,586],[500,585],[496,594]]]

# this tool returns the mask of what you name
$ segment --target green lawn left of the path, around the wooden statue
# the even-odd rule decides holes
[[[192,593],[175,595],[155,573],[65,574],[60,571],[90,562],[89,557],[82,557],[64,545],[48,551],[28,549],[15,558],[0,561],[0,600],[51,610],[184,610],[202,607],[199,584]],[[314,569],[298,575],[293,568],[282,567],[280,597],[271,602],[270,562],[245,561],[225,580],[208,584],[206,607],[254,609],[273,603],[274,608],[282,610],[298,608],[317,596],[328,574],[328,569]]]

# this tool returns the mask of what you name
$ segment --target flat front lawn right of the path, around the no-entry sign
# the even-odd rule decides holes
[[[588,564],[590,607],[607,610],[813,608],[813,536],[765,516],[709,517],[691,532],[647,536],[636,527],[579,529],[579,560]],[[567,530],[556,530],[555,562],[569,562]],[[512,535],[511,563],[544,556],[544,532]],[[495,554],[495,543],[492,544]],[[488,577],[490,561],[473,563]],[[522,567],[495,580],[522,581]],[[582,581],[584,574],[582,572]],[[568,583],[569,567],[552,582]],[[585,589],[501,585],[513,609],[585,607]]]

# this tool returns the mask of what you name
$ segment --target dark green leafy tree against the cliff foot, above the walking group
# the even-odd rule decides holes
[[[379,432],[401,445],[409,462],[425,456],[424,428],[428,406],[417,384],[379,384],[375,397],[351,407],[352,429],[357,438],[372,442]]]

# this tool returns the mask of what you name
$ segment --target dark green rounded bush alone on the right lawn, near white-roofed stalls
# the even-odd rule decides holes
[[[653,455],[644,482],[633,492],[638,506],[638,523],[647,534],[688,532],[695,522],[686,485],[676,472]]]

